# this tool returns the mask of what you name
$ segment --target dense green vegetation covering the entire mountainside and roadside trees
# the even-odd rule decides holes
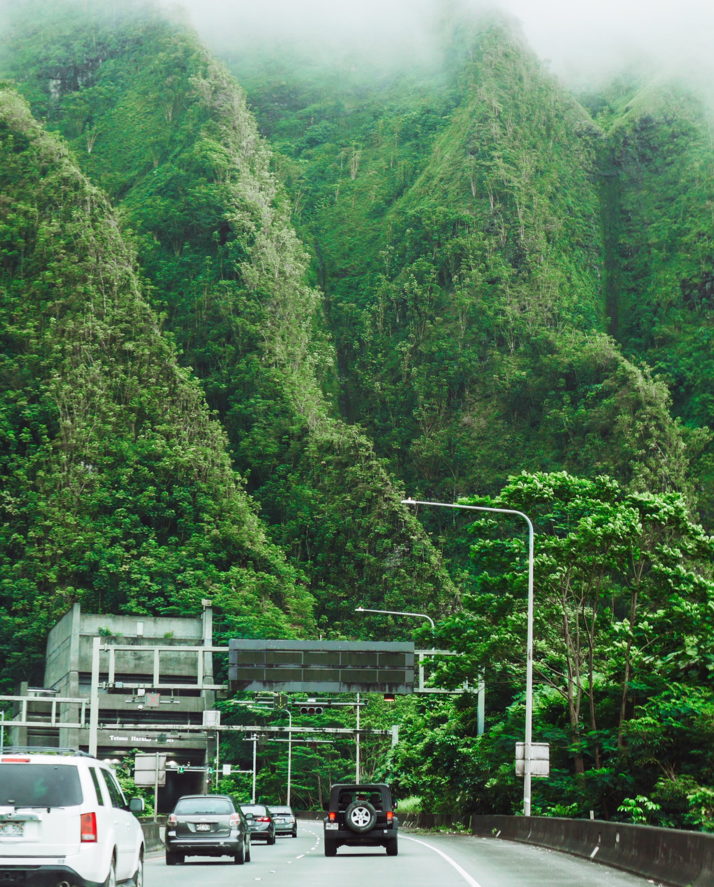
[[[714,829],[710,106],[664,76],[573,94],[517,23],[447,8],[385,73],[218,59],[150,0],[9,4],[4,686],[76,600],[208,595],[244,637],[426,641],[354,609],[427,612],[463,654],[435,679],[485,670],[486,733],[470,693],[375,701],[402,742],[365,773],[516,812],[522,526],[400,502],[515,507],[535,812]],[[349,754],[300,750],[305,805]]]

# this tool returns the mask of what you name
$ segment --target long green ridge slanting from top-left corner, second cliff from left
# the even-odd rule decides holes
[[[291,207],[246,98],[150,6],[106,20],[61,4],[5,53],[48,125],[121,201],[154,303],[198,374],[271,537],[302,569],[323,632],[362,632],[357,602],[448,608],[439,554],[372,444],[333,415],[333,349]],[[27,4],[22,15],[27,16]],[[62,35],[62,70],[41,49]],[[101,58],[93,47],[105,46]],[[91,51],[90,51],[90,48]],[[94,53],[94,54],[92,54]],[[90,65],[91,62],[91,65]],[[343,628],[343,624],[345,627]]]

